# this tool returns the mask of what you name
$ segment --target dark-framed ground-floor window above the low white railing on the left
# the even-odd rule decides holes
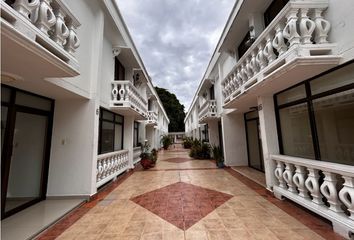
[[[98,154],[123,149],[124,117],[101,108]]]

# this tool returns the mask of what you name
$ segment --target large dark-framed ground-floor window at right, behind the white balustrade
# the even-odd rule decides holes
[[[354,165],[353,65],[275,95],[282,154]]]

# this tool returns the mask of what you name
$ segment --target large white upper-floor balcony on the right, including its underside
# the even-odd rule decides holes
[[[252,95],[274,94],[338,65],[336,45],[327,41],[331,24],[322,16],[327,7],[290,1],[222,81],[224,107],[242,107]]]

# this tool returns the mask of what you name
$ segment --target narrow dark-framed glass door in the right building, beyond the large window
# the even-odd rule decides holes
[[[245,114],[248,165],[264,172],[262,140],[260,135],[258,112]]]

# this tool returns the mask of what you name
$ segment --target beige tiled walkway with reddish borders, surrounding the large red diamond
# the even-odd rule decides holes
[[[188,158],[188,153],[160,151],[156,171],[130,172],[123,182],[114,182],[103,195],[98,194],[98,199],[78,209],[79,216],[64,218],[40,239],[343,239],[328,222],[291,201],[274,198],[264,187],[232,169],[216,169],[215,163],[205,160],[162,161],[173,157]],[[161,165],[163,169],[159,170]],[[180,182],[233,197],[186,230],[130,200]],[[171,211],[169,215],[175,213]]]

